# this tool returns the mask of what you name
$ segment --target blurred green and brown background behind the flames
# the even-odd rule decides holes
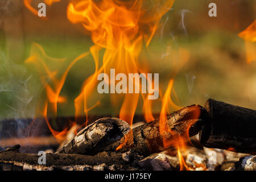
[[[39,2],[32,5],[36,7]],[[217,17],[208,16],[210,2],[217,4]],[[40,44],[49,57],[65,59],[49,63],[49,67],[59,68],[59,77],[75,57],[93,45],[80,24],[68,21],[67,5],[68,1],[61,1],[47,6],[47,20],[33,15],[22,4],[13,4],[19,6],[14,13],[0,11],[0,118],[34,117],[45,97],[35,67],[24,64],[32,42]],[[140,60],[147,61],[151,73],[159,73],[160,88],[165,90],[175,71],[172,53],[184,48],[190,56],[175,77],[176,105],[204,105],[213,98],[256,109],[256,61],[246,63],[245,42],[238,36],[253,23],[255,7],[254,0],[177,0],[163,16],[148,49],[143,48]],[[91,55],[72,67],[61,91],[68,100],[59,105],[59,116],[74,115],[73,100],[94,67]],[[89,106],[97,101],[101,104],[89,112],[92,115],[117,115],[121,107],[120,101],[115,107],[109,106],[109,95],[96,91]],[[140,97],[137,114],[142,114],[142,105]],[[153,112],[160,112],[160,99],[153,102]]]

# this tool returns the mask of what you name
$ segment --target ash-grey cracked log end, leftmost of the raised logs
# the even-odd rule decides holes
[[[130,126],[121,119],[101,118],[82,129],[56,154],[96,155],[129,131]]]

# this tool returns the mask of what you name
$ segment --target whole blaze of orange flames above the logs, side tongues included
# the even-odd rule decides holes
[[[48,0],[44,1],[47,5],[52,5],[53,2],[58,2],[58,0]],[[72,69],[73,65],[84,59],[89,53],[92,55],[95,69],[93,75],[86,78],[84,84],[81,87],[81,92],[79,96],[75,98],[75,117],[80,115],[86,115],[85,126],[88,123],[88,112],[94,107],[100,104],[97,101],[94,105],[89,105],[89,100],[97,87],[97,77],[100,73],[106,73],[110,75],[110,69],[115,69],[115,74],[123,73],[129,75],[129,73],[140,74],[143,73],[147,75],[150,69],[146,69],[147,65],[143,65],[144,69],[139,67],[139,55],[142,50],[143,43],[149,46],[156,30],[159,27],[160,18],[169,11],[173,5],[173,0],[155,0],[154,8],[150,10],[145,10],[146,0],[137,1],[121,1],[121,0],[74,0],[71,1],[67,7],[67,18],[72,23],[81,23],[86,31],[90,32],[92,42],[94,45],[90,47],[89,52],[83,53],[82,55],[76,57],[72,63],[68,66],[65,72],[59,76],[58,69],[50,69],[46,60],[53,61],[64,61],[57,60],[48,57],[43,51],[43,48],[39,44],[33,44],[31,50],[31,56],[28,57],[26,63],[33,63],[36,65],[40,73],[40,79],[43,82],[46,90],[47,100],[43,107],[43,116],[46,118],[47,125],[51,130],[52,134],[59,140],[65,139],[67,134],[67,128],[63,131],[53,130],[51,124],[47,119],[47,114],[52,111],[55,116],[57,115],[57,106],[63,102],[67,101],[67,98],[61,96],[61,89],[65,83],[65,79],[68,76],[68,72]],[[24,0],[24,5],[35,14],[35,9],[30,5],[30,0]],[[100,52],[104,51],[104,56],[101,60]],[[160,111],[160,134],[165,132],[170,132],[177,136],[176,140],[166,140],[163,139],[163,146],[176,146],[178,155],[180,158],[181,169],[185,166],[183,157],[181,156],[181,150],[185,150],[185,145],[183,138],[175,134],[174,131],[168,130],[166,127],[167,114],[170,113],[170,108],[177,110],[180,106],[177,106],[174,101],[172,101],[171,95],[176,96],[174,89],[174,79],[176,73],[183,67],[183,65],[189,59],[189,52],[185,49],[178,49],[178,51],[173,51],[174,57],[178,57],[174,63],[174,71],[171,74],[171,80],[168,83],[166,92],[162,97],[162,109]],[[101,65],[102,62],[102,65]],[[112,83],[114,80],[106,79],[106,84],[110,85],[110,88],[114,88],[115,85]],[[134,79],[134,78],[129,78]],[[148,84],[155,89],[154,80],[150,80],[147,76],[146,79]],[[129,80],[133,81],[133,80]],[[133,82],[134,83],[134,82]],[[151,87],[150,87],[151,88]],[[125,88],[129,90],[129,88]],[[122,106],[119,110],[119,118],[123,119],[131,126],[133,123],[133,118],[135,110],[137,109],[139,97],[143,98],[143,111],[144,117],[147,122],[153,121],[154,116],[152,114],[152,100],[148,99],[152,94],[144,94],[140,85],[134,83],[134,90],[139,90],[139,93],[123,93],[120,96],[112,94],[112,98],[122,98]],[[154,90],[153,89],[153,90]],[[152,91],[152,90],[151,90]],[[161,92],[159,91],[160,95]],[[114,101],[115,99],[113,99]],[[128,136],[128,137],[127,137]],[[126,136],[126,140],[118,148],[122,148],[122,145],[132,138],[132,132]],[[189,137],[189,136],[187,136]]]

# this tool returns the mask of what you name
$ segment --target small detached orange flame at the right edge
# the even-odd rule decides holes
[[[251,61],[256,61],[256,20],[250,24],[244,31],[239,34],[240,38],[245,40],[245,50],[246,50],[246,61],[251,63]]]

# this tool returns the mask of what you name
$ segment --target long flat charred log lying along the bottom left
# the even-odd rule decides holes
[[[19,152],[19,145],[0,152],[1,170],[69,170],[69,171],[102,171],[138,169],[131,162],[123,160],[123,154],[112,156],[88,156],[79,154],[46,154],[46,164],[39,164],[39,155]]]

